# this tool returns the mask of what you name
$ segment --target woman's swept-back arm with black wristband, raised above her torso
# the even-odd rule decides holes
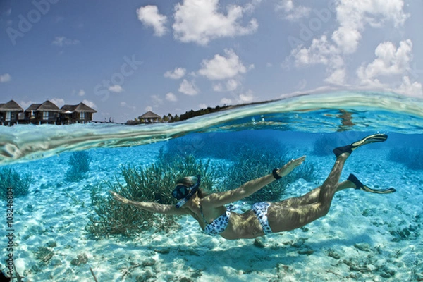
[[[288,164],[276,170],[276,173],[278,173],[278,175],[281,177],[286,176],[288,173],[293,171],[294,168],[300,166],[300,164],[302,164],[304,160],[305,156],[288,161]],[[208,195],[204,198],[202,203],[207,205],[207,207],[221,207],[224,204],[236,202],[252,195],[252,193],[257,192],[258,190],[260,190],[267,184],[273,182],[274,180],[274,176],[272,175],[272,173],[270,173],[266,176],[250,180],[247,183],[240,185],[240,187],[236,189]]]

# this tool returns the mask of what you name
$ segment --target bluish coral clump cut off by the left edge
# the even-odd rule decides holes
[[[22,176],[12,168],[1,168],[0,170],[0,199],[6,200],[8,188],[13,189],[13,197],[27,195],[32,177],[30,174]]]

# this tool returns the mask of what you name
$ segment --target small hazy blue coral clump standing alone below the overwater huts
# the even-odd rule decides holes
[[[88,171],[90,171],[91,157],[88,152],[73,152],[69,157],[69,168],[66,171],[66,180],[77,182],[87,178]]]

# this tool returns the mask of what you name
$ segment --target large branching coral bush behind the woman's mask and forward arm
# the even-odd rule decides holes
[[[171,196],[175,180],[183,176],[202,177],[202,187],[212,189],[213,175],[209,173],[209,161],[196,161],[188,156],[167,162],[163,159],[163,151],[157,161],[147,167],[121,167],[122,180],[116,177],[116,183],[98,185],[92,189],[91,199],[95,215],[89,216],[85,230],[94,238],[108,238],[112,235],[128,237],[154,228],[154,231],[168,231],[176,228],[177,216],[152,214],[135,207],[121,204],[102,189],[112,190],[130,200],[141,202],[158,202],[174,204]]]

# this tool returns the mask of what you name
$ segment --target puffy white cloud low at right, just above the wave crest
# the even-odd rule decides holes
[[[412,42],[400,42],[398,49],[392,42],[383,42],[374,51],[376,59],[367,66],[357,69],[360,80],[371,80],[377,76],[400,75],[410,69],[412,61]]]

